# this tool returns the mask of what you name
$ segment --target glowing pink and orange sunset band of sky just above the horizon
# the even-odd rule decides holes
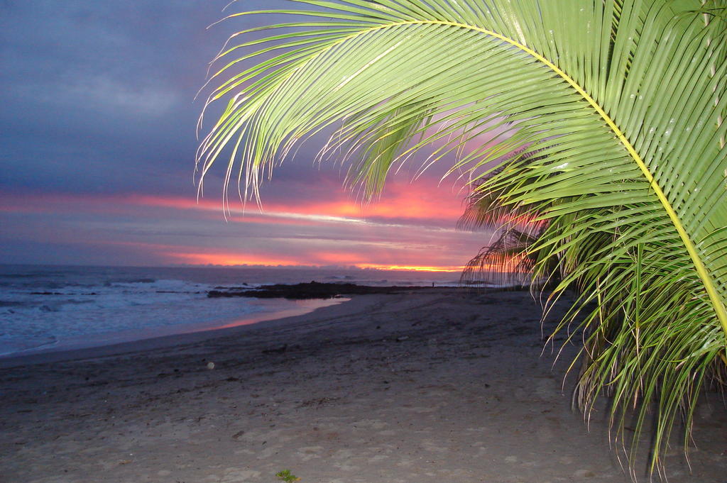
[[[457,264],[470,253],[462,248],[466,243],[449,240],[474,238],[454,230],[462,213],[457,195],[430,180],[393,181],[380,200],[369,204],[326,183],[310,194],[296,185],[263,203],[261,211],[254,202],[245,212],[238,200],[230,203],[225,217],[220,198],[0,192],[0,212],[32,213],[33,221],[57,218],[43,225],[42,238],[93,245],[100,253],[120,250],[129,259],[138,253],[161,264],[460,272]],[[91,223],[78,224],[86,215]],[[219,240],[206,235],[220,226]]]

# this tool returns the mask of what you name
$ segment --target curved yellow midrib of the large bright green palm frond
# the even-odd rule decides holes
[[[370,28],[365,28],[361,31],[357,31],[356,33],[353,33],[349,36],[344,36],[337,41],[332,42],[331,44],[324,47],[324,49],[321,49],[320,51],[316,52],[316,54],[312,55],[308,58],[305,62],[303,62],[298,68],[295,68],[291,70],[285,78],[281,79],[281,84],[284,83],[284,81],[289,78],[290,76],[293,76],[294,73],[304,68],[305,65],[308,64],[308,62],[313,61],[314,59],[318,58],[320,55],[329,52],[331,49],[334,49],[336,46],[343,44],[346,41],[353,40],[353,38],[356,38],[358,36],[366,35],[367,33],[375,32],[375,31],[381,31],[388,28],[397,28],[407,25],[441,25],[443,27],[451,27],[451,28],[464,28],[470,31],[475,31],[478,33],[483,33],[486,36],[491,36],[493,38],[497,38],[507,44],[510,44],[511,46],[515,47],[516,49],[521,50],[522,52],[525,52],[526,54],[529,54],[531,57],[533,57],[538,62],[541,62],[543,65],[545,65],[547,68],[550,68],[550,70],[553,70],[554,73],[556,73],[558,76],[563,78],[564,81],[566,81],[567,84],[571,86],[578,94],[580,94],[583,99],[590,105],[590,107],[593,108],[595,113],[597,113],[603,121],[606,123],[609,129],[613,131],[614,135],[617,139],[619,139],[619,142],[623,145],[624,149],[629,153],[630,157],[633,159],[633,161],[636,163],[636,165],[639,167],[641,173],[644,176],[644,179],[646,179],[646,182],[648,182],[648,185],[650,189],[654,192],[654,195],[656,195],[656,198],[659,199],[659,202],[662,204],[662,207],[664,208],[664,211],[667,213],[667,216],[669,216],[670,221],[672,222],[673,226],[675,227],[675,230],[678,232],[680,239],[684,243],[684,246],[686,250],[689,253],[689,256],[694,263],[694,267],[696,269],[697,274],[699,275],[700,280],[702,280],[702,283],[704,285],[704,290],[707,292],[707,295],[710,297],[710,302],[712,303],[712,308],[715,311],[715,314],[718,317],[718,320],[720,321],[720,325],[722,326],[723,332],[727,335],[727,310],[723,306],[722,302],[720,301],[720,297],[718,295],[717,289],[715,288],[715,282],[712,280],[712,277],[710,276],[709,272],[707,272],[707,268],[704,266],[704,261],[702,261],[702,257],[699,256],[699,253],[696,249],[696,245],[694,244],[693,240],[691,240],[691,237],[686,232],[686,228],[684,227],[684,224],[681,222],[681,219],[679,218],[678,214],[676,213],[674,207],[670,203],[667,196],[664,194],[664,191],[662,190],[662,187],[659,185],[659,183],[656,182],[656,179],[654,178],[654,175],[651,174],[651,171],[649,171],[648,166],[646,166],[646,163],[644,163],[643,158],[639,155],[639,153],[636,151],[635,147],[631,144],[629,139],[627,139],[624,132],[619,128],[619,126],[616,124],[613,118],[606,113],[606,111],[601,107],[601,105],[598,104],[598,102],[595,101],[593,97],[586,92],[585,88],[577,83],[577,81],[574,80],[571,76],[569,76],[564,70],[558,67],[558,65],[555,65],[553,62],[550,62],[546,57],[544,57],[542,54],[539,54],[539,52],[535,51],[534,49],[531,49],[529,46],[526,46],[522,44],[521,42],[516,41],[513,38],[510,38],[508,36],[504,36],[501,33],[497,33],[495,31],[488,30],[486,28],[478,27],[477,25],[470,25],[466,23],[457,23],[457,22],[451,22],[446,20],[402,20],[401,22],[391,22],[391,23],[385,23],[381,25],[375,25]],[[281,85],[278,84],[278,85]]]

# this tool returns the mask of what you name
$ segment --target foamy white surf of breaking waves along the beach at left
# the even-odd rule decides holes
[[[207,299],[214,286],[185,280],[78,283],[35,280],[0,292],[0,354],[83,336],[214,322],[258,312],[244,299]]]

